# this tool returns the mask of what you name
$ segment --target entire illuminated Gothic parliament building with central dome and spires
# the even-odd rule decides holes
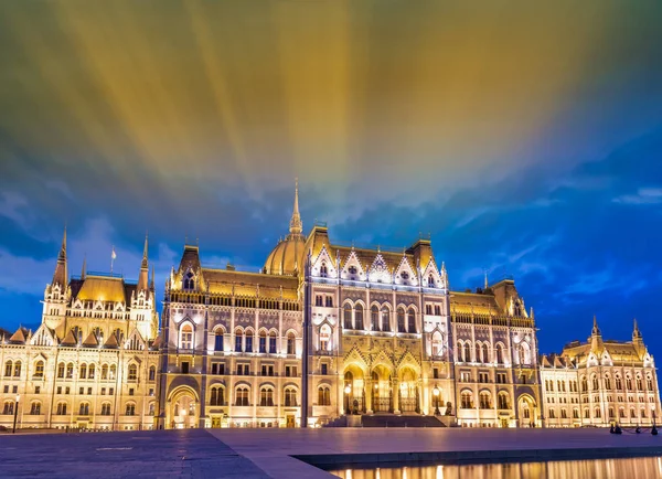
[[[320,427],[409,417],[441,426],[650,425],[654,362],[631,342],[538,351],[512,279],[452,291],[429,240],[401,251],[289,234],[259,273],[185,245],[159,329],[148,244],[137,283],[68,275],[66,233],[42,323],[0,344],[0,424],[93,429]],[[376,423],[375,423],[376,421]],[[367,424],[367,423],[365,423]]]

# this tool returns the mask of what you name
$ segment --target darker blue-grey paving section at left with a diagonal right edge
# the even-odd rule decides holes
[[[268,476],[203,429],[0,436],[0,477]]]

